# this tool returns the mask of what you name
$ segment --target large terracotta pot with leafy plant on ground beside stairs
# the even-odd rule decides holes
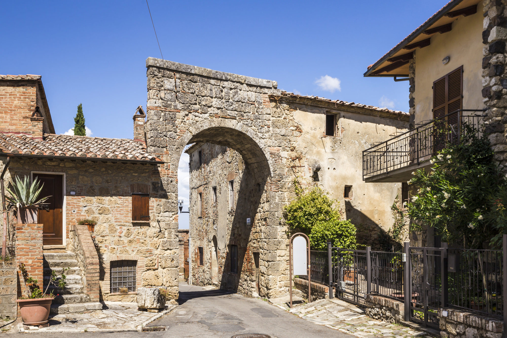
[[[23,263],[19,264],[19,269],[21,271],[21,275],[23,276],[26,293],[28,294],[27,297],[22,297],[16,300],[19,304],[23,324],[31,326],[46,324],[48,322],[51,302],[55,297],[54,291],[47,293],[48,288],[50,285],[54,285],[63,290],[63,288],[67,285],[65,281],[67,278],[65,276],[65,272],[68,268],[63,268],[63,272],[60,277],[57,277],[56,272],[52,271],[48,286],[44,292],[40,289],[39,285],[37,285],[37,280],[28,276]]]

